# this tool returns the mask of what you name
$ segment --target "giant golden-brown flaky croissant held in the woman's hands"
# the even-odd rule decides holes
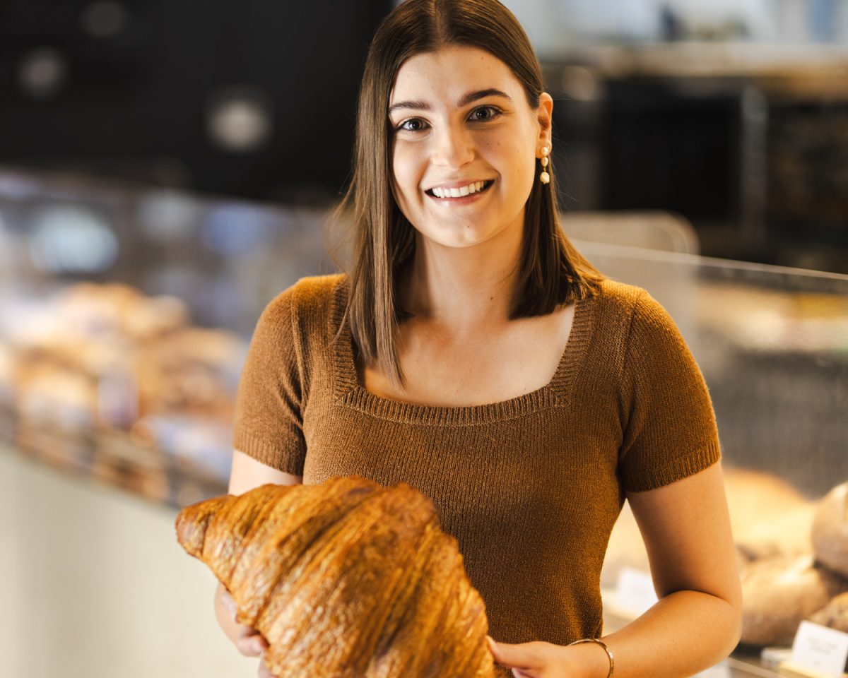
[[[483,600],[432,503],[359,477],[183,508],[177,538],[269,643],[278,678],[491,678]]]

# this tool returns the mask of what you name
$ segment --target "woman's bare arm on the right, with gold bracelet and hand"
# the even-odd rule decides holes
[[[682,481],[628,494],[660,601],[603,641],[616,678],[676,678],[716,664],[736,647],[742,594],[719,464]],[[533,678],[604,678],[592,644],[497,643],[495,659]]]

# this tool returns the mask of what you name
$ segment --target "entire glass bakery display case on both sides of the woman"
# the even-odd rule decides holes
[[[0,170],[0,447],[170,508],[225,492],[254,324],[299,277],[335,270],[328,221]],[[656,297],[700,364],[739,568],[762,601],[746,612],[745,644],[711,675],[776,675],[763,648],[785,647],[801,619],[845,624],[848,543],[832,536],[848,534],[845,512],[842,523],[836,508],[820,516],[848,481],[848,275],[700,257],[685,230],[682,251],[633,246],[674,242],[652,232],[666,222],[639,220],[624,246],[583,221],[576,242]],[[645,570],[625,507],[601,580],[611,625],[628,615],[622,573]]]

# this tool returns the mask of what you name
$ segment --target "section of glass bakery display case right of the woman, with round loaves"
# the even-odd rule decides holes
[[[848,276],[578,247],[668,309],[710,389],[745,599],[719,675],[798,675],[785,648],[802,620],[848,631]],[[609,625],[656,600],[647,571],[625,506],[602,573]]]

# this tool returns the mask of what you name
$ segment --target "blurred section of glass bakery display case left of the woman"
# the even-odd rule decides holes
[[[171,506],[226,490],[248,340],[326,214],[0,172],[0,437]]]

